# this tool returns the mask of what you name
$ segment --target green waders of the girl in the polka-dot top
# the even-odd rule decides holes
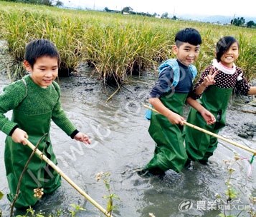
[[[202,106],[210,111],[216,118],[216,123],[207,125],[201,114],[195,109],[191,109],[187,122],[196,126],[211,131],[212,133],[219,133],[219,130],[225,126],[226,111],[229,98],[232,95],[232,88],[224,89],[216,86],[209,86],[209,89],[204,91],[202,95]],[[191,161],[207,162],[208,158],[213,155],[217,148],[217,138],[210,136],[207,133],[197,131],[189,126],[185,127],[185,143],[186,153]]]

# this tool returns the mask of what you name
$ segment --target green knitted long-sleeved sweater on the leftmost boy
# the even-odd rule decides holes
[[[35,84],[29,75],[24,76],[22,80],[9,84],[0,94],[1,131],[9,135],[14,127],[19,126],[19,123],[14,123],[4,116],[7,111],[16,110],[31,116],[52,111],[52,121],[70,136],[76,128],[61,107],[60,86],[54,81],[44,89]]]

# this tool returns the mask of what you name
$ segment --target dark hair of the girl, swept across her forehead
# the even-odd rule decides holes
[[[222,55],[227,52],[230,46],[232,44],[237,43],[237,46],[239,47],[239,43],[237,39],[234,39],[232,36],[224,36],[216,44],[216,59],[219,62],[222,58]]]

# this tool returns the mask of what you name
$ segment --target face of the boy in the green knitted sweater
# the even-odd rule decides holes
[[[55,57],[41,56],[33,67],[28,61],[24,61],[24,66],[34,83],[42,88],[47,88],[58,76],[58,59]]]

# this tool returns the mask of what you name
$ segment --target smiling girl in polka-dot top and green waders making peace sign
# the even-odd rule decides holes
[[[224,36],[219,39],[216,45],[216,59],[202,73],[193,94],[188,99],[189,101],[192,98],[199,99],[201,97],[202,106],[215,116],[216,123],[207,125],[200,113],[194,109],[189,112],[187,119],[189,123],[207,131],[219,133],[226,123],[227,105],[232,91],[237,89],[240,94],[245,96],[256,94],[256,86],[249,86],[242,69],[234,64],[238,56],[239,44],[234,37]],[[207,164],[208,158],[217,148],[217,138],[188,127],[185,129],[185,133],[186,153],[189,160]]]

